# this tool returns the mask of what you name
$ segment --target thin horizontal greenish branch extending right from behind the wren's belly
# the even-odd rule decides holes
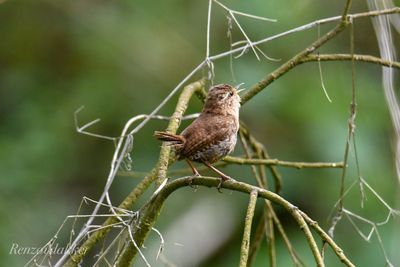
[[[343,168],[343,162],[292,162],[278,159],[245,159],[239,157],[226,156],[225,162],[240,165],[278,165],[283,167],[291,167],[296,169],[302,168]]]

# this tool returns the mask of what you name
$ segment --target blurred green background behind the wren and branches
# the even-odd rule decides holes
[[[125,122],[151,112],[176,84],[205,56],[208,1],[0,1],[0,265],[22,266],[30,255],[10,255],[12,244],[39,247],[57,231],[67,215],[76,214],[83,196],[98,199],[105,185],[114,151],[110,141],[78,134],[73,115],[80,106],[81,124],[101,122],[91,131],[118,136]],[[277,23],[239,18],[249,37],[258,40],[304,23],[339,15],[344,1],[224,1],[229,7]],[[399,5],[399,2],[396,2]],[[352,12],[365,11],[355,1]],[[211,54],[229,49],[227,19],[214,5]],[[323,25],[321,34],[332,25]],[[378,55],[368,19],[355,21],[355,47],[361,54]],[[260,48],[271,57],[287,60],[318,36],[316,28],[292,34]],[[234,41],[242,40],[234,27]],[[398,39],[397,39],[398,40]],[[321,52],[347,53],[349,34],[342,33]],[[252,53],[215,62],[215,83],[244,82],[250,87],[279,62],[257,61]],[[322,63],[323,94],[318,65],[299,66],[270,85],[241,110],[242,120],[262,141],[273,158],[292,161],[341,161],[347,135],[351,97],[349,62]],[[397,73],[398,74],[398,73]],[[200,78],[199,73],[195,78]],[[397,76],[398,77],[398,76]],[[381,69],[356,64],[358,111],[356,137],[361,173],[393,207],[398,207],[398,180],[394,171],[393,131],[381,86]],[[176,97],[160,112],[172,113]],[[188,113],[201,103],[191,101]],[[182,125],[182,128],[184,125]],[[158,158],[160,144],[154,130],[166,122],[151,122],[135,136],[133,170],[146,172]],[[235,152],[240,155],[239,149]],[[174,168],[185,167],[182,163]],[[327,229],[339,195],[340,170],[279,168],[282,195]],[[224,169],[252,184],[249,167]],[[246,179],[246,177],[248,177]],[[354,153],[350,154],[346,185],[357,178]],[[121,201],[140,177],[117,177],[112,200]],[[166,239],[165,257],[178,266],[234,266],[239,259],[243,220],[248,197],[214,189],[185,188],[171,196],[156,224]],[[397,203],[397,204],[396,204]],[[383,221],[388,210],[369,192],[360,208],[357,187],[345,206],[372,221]],[[139,206],[138,206],[139,207]],[[135,207],[135,208],[138,208]],[[256,219],[261,214],[258,203]],[[90,212],[88,205],[81,213]],[[313,265],[303,235],[281,208],[278,213],[302,258]],[[400,266],[399,218],[379,227],[388,258]],[[365,233],[369,226],[358,224]],[[70,224],[60,235],[68,238]],[[343,219],[337,242],[358,266],[384,266],[376,236],[365,242]],[[144,249],[154,266],[159,240],[152,233]],[[278,239],[278,266],[290,265]],[[267,266],[265,244],[254,266]],[[138,258],[137,266],[143,266]],[[338,266],[332,253],[328,266]],[[84,264],[84,266],[89,263]]]

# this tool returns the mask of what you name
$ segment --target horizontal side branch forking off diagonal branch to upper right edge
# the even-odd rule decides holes
[[[306,63],[311,61],[361,61],[374,63],[386,67],[392,67],[400,69],[400,62],[385,60],[379,57],[374,57],[370,55],[354,55],[354,58],[350,54],[320,54],[320,55],[308,55],[300,60],[300,63]]]

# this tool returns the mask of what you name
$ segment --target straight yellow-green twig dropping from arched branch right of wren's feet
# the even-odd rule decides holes
[[[240,249],[239,267],[247,266],[247,259],[249,258],[251,225],[253,223],[254,210],[257,203],[257,195],[257,190],[253,190],[250,192],[249,206],[247,207],[246,219],[244,221],[244,231],[242,247]]]

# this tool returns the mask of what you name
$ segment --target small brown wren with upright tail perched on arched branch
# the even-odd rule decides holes
[[[239,90],[241,91],[241,90]],[[223,181],[232,179],[211,164],[233,151],[239,130],[240,96],[229,84],[215,85],[209,89],[200,116],[181,134],[156,131],[154,136],[169,142],[178,160],[185,159],[195,176],[199,172],[191,161],[201,162],[218,173]]]

